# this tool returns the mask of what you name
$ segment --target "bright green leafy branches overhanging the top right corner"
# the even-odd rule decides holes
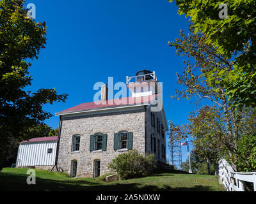
[[[172,2],[172,0],[169,0]],[[229,98],[236,106],[256,106],[256,2],[255,0],[195,1],[177,0],[179,14],[191,17],[195,33],[205,35],[218,54],[234,59],[229,69],[216,69],[207,79],[220,75]],[[222,4],[222,5],[221,5]],[[227,18],[220,18],[225,12]],[[220,8],[219,8],[220,6]]]

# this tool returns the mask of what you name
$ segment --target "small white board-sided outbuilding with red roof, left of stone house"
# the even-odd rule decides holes
[[[54,166],[57,136],[32,138],[20,143],[16,167]]]

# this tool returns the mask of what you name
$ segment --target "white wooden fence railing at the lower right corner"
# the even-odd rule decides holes
[[[256,172],[235,172],[225,159],[218,162],[216,175],[220,176],[222,187],[226,191],[245,191],[244,182],[252,182],[253,190],[256,191]]]

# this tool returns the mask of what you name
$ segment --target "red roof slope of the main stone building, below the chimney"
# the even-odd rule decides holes
[[[101,108],[114,108],[116,106],[129,106],[129,105],[147,105],[148,103],[156,99],[157,94],[151,96],[141,96],[141,97],[127,97],[127,98],[118,98],[118,99],[109,99],[107,101],[95,101],[90,103],[81,103],[80,105],[68,108],[61,112],[55,113],[56,115],[61,115],[63,113],[72,113],[72,112],[81,112],[84,110],[97,110]]]

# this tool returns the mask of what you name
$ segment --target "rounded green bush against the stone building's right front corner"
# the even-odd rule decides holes
[[[133,179],[148,175],[156,167],[155,163],[153,154],[144,157],[138,153],[138,150],[130,150],[119,154],[108,168],[115,171],[120,179]]]

